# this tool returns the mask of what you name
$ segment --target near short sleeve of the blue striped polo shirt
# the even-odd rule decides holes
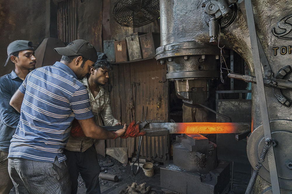
[[[77,120],[89,119],[93,117],[89,102],[88,90],[85,88],[85,86],[82,86],[76,90],[70,98],[69,102]]]

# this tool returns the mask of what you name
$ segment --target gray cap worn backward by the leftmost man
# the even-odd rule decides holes
[[[4,67],[7,65],[8,60],[10,59],[10,56],[12,53],[18,52],[18,51],[24,51],[24,50],[29,50],[29,49],[34,49],[32,47],[32,42],[28,40],[15,40],[11,42],[8,47],[7,47],[7,60],[4,64]]]

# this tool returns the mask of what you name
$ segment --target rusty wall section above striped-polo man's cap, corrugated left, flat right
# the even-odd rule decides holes
[[[58,3],[58,38],[65,44],[88,40],[102,52],[102,0],[64,0]]]

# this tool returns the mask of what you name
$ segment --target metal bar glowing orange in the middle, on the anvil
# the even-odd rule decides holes
[[[166,134],[232,134],[251,130],[251,123],[150,123],[145,129],[146,136],[163,136]]]

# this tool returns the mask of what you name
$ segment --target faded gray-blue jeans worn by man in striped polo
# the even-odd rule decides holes
[[[67,166],[57,157],[54,163],[9,158],[8,171],[16,194],[71,193]]]

